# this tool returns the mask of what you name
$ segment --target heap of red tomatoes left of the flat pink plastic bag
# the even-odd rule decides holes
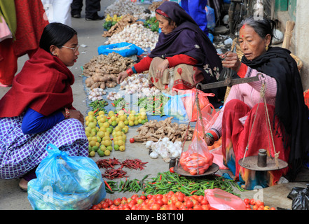
[[[104,199],[91,210],[214,210],[202,195],[186,196],[181,192],[164,195],[132,195],[116,200]]]

